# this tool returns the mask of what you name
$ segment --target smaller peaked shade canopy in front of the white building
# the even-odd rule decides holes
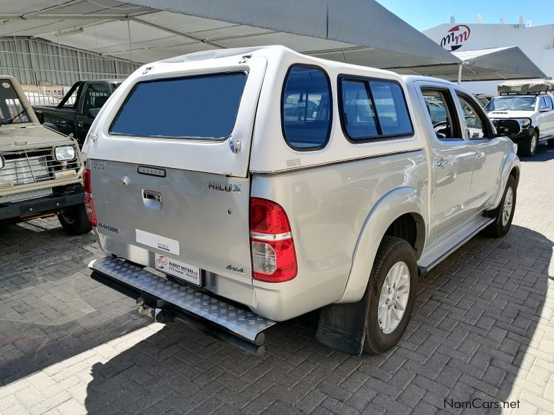
[[[449,81],[491,81],[544,78],[546,75],[518,47],[453,52],[462,64],[391,68],[403,75],[425,75]]]

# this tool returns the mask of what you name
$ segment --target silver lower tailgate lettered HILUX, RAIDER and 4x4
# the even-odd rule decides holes
[[[161,177],[141,174],[132,163],[87,163],[97,229],[107,237],[108,252],[129,258],[136,246],[250,280],[248,178],[167,168]]]

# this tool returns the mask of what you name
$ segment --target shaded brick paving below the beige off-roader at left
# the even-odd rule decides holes
[[[2,225],[0,252],[0,387],[148,324],[91,280],[92,233],[69,237],[57,219]]]

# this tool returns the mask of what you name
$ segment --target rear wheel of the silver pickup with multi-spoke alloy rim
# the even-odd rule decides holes
[[[387,293],[385,281],[387,283],[395,281],[394,274],[396,271],[393,268],[401,272],[397,277],[402,278],[404,276],[405,278],[400,279],[400,284],[402,284],[400,288],[406,287],[406,281],[408,283],[408,287],[404,289],[404,293],[407,293],[407,298],[403,297],[402,294],[395,297],[395,290],[399,286],[393,284],[387,299],[387,301],[393,302],[393,306],[387,306],[384,302],[379,304],[382,293]],[[418,264],[413,248],[404,239],[385,236],[379,245],[377,255],[375,255],[375,262],[370,276],[370,287],[368,287],[370,290],[370,303],[364,339],[364,351],[366,353],[384,353],[392,349],[400,341],[411,318],[417,285]],[[383,288],[384,286],[385,288]],[[383,289],[385,291],[382,292]],[[393,297],[390,297],[391,295]],[[400,310],[402,306],[404,307],[404,312],[402,315],[397,315],[402,312]],[[384,314],[381,315],[381,320],[379,320],[379,313],[383,313],[383,310],[385,310]],[[387,318],[395,314],[397,317],[400,317],[400,321]],[[389,323],[388,326],[387,323]]]

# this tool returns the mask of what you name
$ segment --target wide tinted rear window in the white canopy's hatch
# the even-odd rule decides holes
[[[217,140],[233,131],[246,75],[140,82],[111,124],[129,136]]]

